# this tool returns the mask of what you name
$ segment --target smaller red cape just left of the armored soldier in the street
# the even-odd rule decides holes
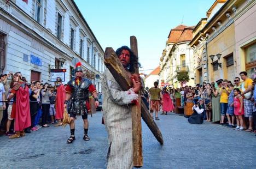
[[[64,85],[61,84],[61,86],[57,87],[57,94],[56,94],[56,119],[63,119],[63,113],[64,113],[64,102],[66,99],[66,92]]]

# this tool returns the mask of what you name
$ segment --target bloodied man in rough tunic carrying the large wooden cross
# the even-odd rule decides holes
[[[138,58],[127,46],[120,47],[115,52],[131,78],[133,87],[123,91],[115,77],[106,69],[102,90],[103,118],[108,132],[109,152],[107,168],[132,168],[132,117],[131,104],[136,104],[141,89],[141,79],[134,73],[134,65],[138,65]]]

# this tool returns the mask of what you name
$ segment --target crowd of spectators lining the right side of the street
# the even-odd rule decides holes
[[[219,79],[212,83],[203,82],[195,87],[164,87],[159,93],[160,107],[165,107],[167,101],[162,96],[167,92],[171,104],[173,102],[175,105],[176,113],[184,111],[189,123],[202,124],[206,120],[234,130],[256,133],[256,78],[247,77],[246,71],[239,75],[233,82]],[[163,111],[162,114],[167,112]]]

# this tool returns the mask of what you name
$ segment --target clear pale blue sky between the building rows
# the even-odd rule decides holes
[[[105,50],[138,42],[141,73],[159,66],[171,29],[195,26],[215,0],[74,0],[98,42]]]

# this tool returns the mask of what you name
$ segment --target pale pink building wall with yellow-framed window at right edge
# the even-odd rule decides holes
[[[256,75],[256,1],[246,1],[235,19],[235,49],[237,73]]]

